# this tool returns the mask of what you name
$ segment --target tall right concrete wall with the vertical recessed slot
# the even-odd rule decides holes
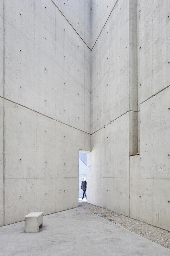
[[[92,152],[87,154],[89,203],[167,230],[169,7],[169,1],[159,0],[92,1]]]

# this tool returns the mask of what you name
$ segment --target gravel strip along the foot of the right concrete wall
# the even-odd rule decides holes
[[[82,207],[88,212],[95,213],[104,219],[111,219],[112,222],[116,223],[117,225],[170,250],[170,232],[167,230],[154,227],[139,220],[131,219],[122,214],[112,212],[86,202],[79,202],[79,207]]]

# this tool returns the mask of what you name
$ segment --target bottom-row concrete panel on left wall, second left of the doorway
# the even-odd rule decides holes
[[[78,182],[77,182],[78,188]],[[56,212],[72,208],[72,178],[56,179]],[[78,195],[77,195],[78,202]]]

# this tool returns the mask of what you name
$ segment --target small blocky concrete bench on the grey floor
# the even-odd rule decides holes
[[[25,233],[38,233],[43,227],[43,212],[31,212],[25,216]]]

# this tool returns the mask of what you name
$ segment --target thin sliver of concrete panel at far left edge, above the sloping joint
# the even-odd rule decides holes
[[[0,9],[1,9],[1,6],[0,6]],[[4,97],[4,19],[1,16],[0,16],[0,96]]]

